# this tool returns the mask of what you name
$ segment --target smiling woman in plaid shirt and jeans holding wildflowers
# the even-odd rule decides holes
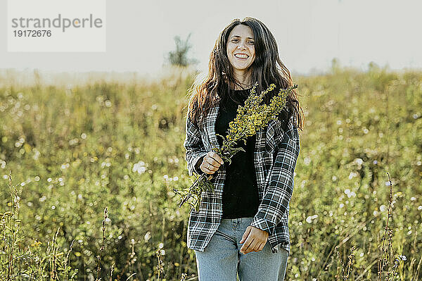
[[[188,247],[195,250],[200,281],[283,280],[290,242],[288,204],[300,151],[301,108],[296,93],[287,98],[278,120],[238,146],[231,165],[213,147],[221,147],[236,108],[250,89],[271,83],[293,84],[279,58],[276,39],[260,20],[233,20],[222,30],[210,55],[209,73],[190,89],[186,118],[189,175],[212,174],[215,193],[202,192],[199,211],[191,211]],[[274,94],[265,96],[267,104]]]

